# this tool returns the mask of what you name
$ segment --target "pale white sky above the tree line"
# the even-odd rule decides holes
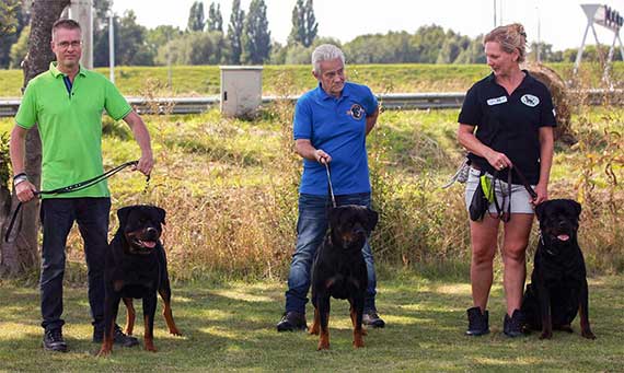
[[[134,10],[137,22],[153,28],[169,24],[186,28],[188,11],[195,0],[113,0],[113,10],[122,14]],[[230,20],[232,0],[204,0],[208,16],[211,2],[221,5],[223,28]],[[241,0],[247,10],[251,0]],[[291,13],[296,0],[265,0],[268,26],[274,40],[285,44],[291,28]],[[419,26],[437,24],[462,35],[475,37],[497,25],[520,22],[524,25],[529,44],[542,40],[554,50],[578,48],[587,26],[581,3],[602,3],[589,0],[314,0],[314,15],[319,35],[343,43],[358,35],[406,31],[414,33]],[[174,5],[172,5],[174,4]],[[610,0],[604,4],[624,15],[624,0]],[[539,30],[539,32],[538,32]],[[613,33],[596,26],[601,44],[610,45]],[[588,44],[594,44],[591,32]]]

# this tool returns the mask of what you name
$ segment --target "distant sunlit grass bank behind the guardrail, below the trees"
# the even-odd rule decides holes
[[[565,80],[571,78],[571,63],[548,65]],[[107,68],[96,71],[108,77]],[[166,67],[118,67],[116,84],[128,96],[141,95],[148,79],[166,83]],[[582,66],[581,73],[590,86],[600,88],[602,77],[600,67],[591,63]],[[348,78],[368,84],[375,93],[385,92],[463,92],[472,83],[489,72],[485,65],[348,65]],[[303,93],[314,86],[314,79],[309,66],[265,66],[263,71],[263,94],[281,93],[281,77],[292,75],[292,93]],[[622,82],[624,63],[613,66],[613,81]],[[201,96],[219,94],[220,72],[217,66],[174,66],[171,69],[172,90],[166,95]],[[0,97],[20,96],[23,83],[21,70],[0,70]]]

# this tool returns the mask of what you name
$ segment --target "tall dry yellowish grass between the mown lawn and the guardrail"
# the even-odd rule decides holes
[[[279,80],[279,96],[288,97],[292,77],[285,71]],[[588,267],[614,272],[624,270],[624,124],[622,110],[614,114],[609,103],[604,105],[574,106],[578,142],[558,148],[555,173],[563,176],[553,182],[551,196],[582,202],[579,235]],[[163,243],[175,279],[286,276],[296,240],[301,172],[301,160],[292,148],[292,109],[288,100],[281,100],[251,121],[213,115],[193,125],[192,117],[158,117],[151,124],[158,165],[148,193],[140,193],[143,183],[135,176],[111,180],[116,208],[148,202],[166,209]],[[367,139],[373,208],[381,214],[371,237],[377,261],[390,268],[426,264],[440,271],[465,270],[458,267],[470,258],[463,188],[440,188],[461,160],[459,145],[444,145],[442,139],[417,127],[397,137],[384,115]],[[108,136],[126,139],[108,156],[112,165],[123,159],[129,137],[123,126]],[[400,145],[405,149],[396,151]],[[111,225],[114,231],[114,217]],[[536,226],[529,256],[535,237]],[[77,234],[70,246],[73,260],[83,263]]]

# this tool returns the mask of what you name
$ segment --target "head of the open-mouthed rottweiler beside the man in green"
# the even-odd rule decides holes
[[[157,246],[165,211],[155,206],[136,205],[117,210],[119,231],[130,254],[149,254]]]

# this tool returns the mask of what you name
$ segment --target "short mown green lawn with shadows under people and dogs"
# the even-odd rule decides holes
[[[115,347],[108,359],[94,357],[99,345],[90,341],[92,327],[84,288],[66,287],[63,333],[70,352],[60,354],[42,350],[37,291],[2,283],[0,371],[35,372],[44,366],[47,372],[622,370],[623,277],[590,281],[590,320],[596,340],[580,337],[578,319],[573,324],[574,334],[555,333],[552,340],[539,340],[536,333],[518,339],[505,337],[500,280],[496,283],[489,306],[492,334],[469,338],[463,336],[465,308],[471,302],[465,279],[393,271],[379,284],[378,306],[388,327],[369,330],[366,347],[354,350],[348,304],[333,300],[331,350],[323,352],[315,350],[315,336],[275,331],[284,305],[281,282],[178,284],[173,288],[173,312],[183,337],[165,331],[158,311],[159,352]],[[123,319],[124,311],[119,314]],[[140,311],[138,316],[135,335],[141,340]]]

